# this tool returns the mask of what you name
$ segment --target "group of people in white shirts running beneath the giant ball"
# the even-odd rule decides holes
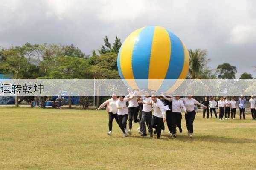
[[[128,106],[127,102],[129,103]],[[196,114],[195,104],[207,109],[204,104],[196,101],[191,95],[186,98],[180,98],[179,95],[175,95],[175,97],[165,96],[164,94],[156,96],[146,90],[142,93],[135,89],[133,92],[130,90],[128,95],[119,96],[119,98],[113,94],[112,98],[102,103],[97,110],[106,107],[109,114],[108,135],[112,134],[112,122],[115,119],[122,130],[123,137],[132,133],[132,123],[134,121],[134,123],[139,123],[140,125],[138,130],[141,136],[147,136],[146,127],[148,127],[150,137],[156,134],[157,138],[160,138],[161,132],[165,130],[164,123],[166,122],[171,137],[177,138],[176,127],[182,132],[181,112],[183,109],[188,136],[192,138],[193,121]],[[154,111],[153,114],[152,109]]]

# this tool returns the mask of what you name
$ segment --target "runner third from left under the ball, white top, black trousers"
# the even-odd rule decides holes
[[[131,90],[129,90],[129,94],[131,94]],[[134,90],[135,94],[136,95],[139,95],[139,90],[138,89],[135,89]],[[127,95],[125,96],[125,98],[129,98],[130,95]],[[139,110],[140,110],[140,107],[139,107],[139,104],[138,104],[138,101],[137,101],[137,96],[133,96],[133,98],[129,101],[129,105],[128,105],[128,116],[129,116],[129,130],[128,130],[128,133],[131,134],[131,128],[132,128],[132,120],[134,121],[134,123],[138,123],[139,122],[139,119],[138,119],[138,114],[139,114]]]

